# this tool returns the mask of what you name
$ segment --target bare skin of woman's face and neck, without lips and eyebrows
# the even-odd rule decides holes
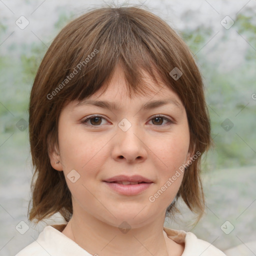
[[[154,202],[148,198],[192,155],[186,111],[176,93],[144,75],[151,89],[146,95],[129,98],[122,69],[117,67],[107,90],[89,97],[115,102],[118,110],[75,106],[78,101],[71,101],[60,113],[59,144],[49,157],[52,167],[64,172],[72,194],[73,215],[62,233],[92,255],[179,256],[184,250],[184,244],[163,231],[165,210],[178,191],[182,173]],[[169,98],[179,106],[141,109],[148,101]],[[102,119],[82,122],[92,114]],[[123,118],[131,123],[127,131],[118,127]],[[72,169],[80,175],[74,183],[67,178]],[[139,194],[121,195],[102,181],[118,174],[139,174],[153,183]],[[118,228],[123,221],[130,226],[126,233]]]

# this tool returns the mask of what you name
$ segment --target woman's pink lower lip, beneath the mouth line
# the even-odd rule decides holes
[[[120,194],[125,194],[125,195],[135,195],[135,194],[141,193],[152,184],[151,182],[151,183],[140,183],[135,185],[123,185],[123,184],[106,182],[106,181],[104,181],[104,183],[106,183],[114,191]]]

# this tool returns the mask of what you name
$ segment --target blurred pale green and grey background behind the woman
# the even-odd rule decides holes
[[[192,231],[227,255],[256,255],[255,0],[0,0],[0,255],[15,255],[46,224],[64,222],[58,214],[38,225],[27,220],[29,92],[60,29],[105,3],[141,4],[160,16],[204,77],[214,142],[202,163],[205,215],[193,226],[180,203],[181,214],[165,225]]]

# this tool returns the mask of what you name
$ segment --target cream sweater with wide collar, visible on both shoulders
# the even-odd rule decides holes
[[[64,226],[65,224],[58,224],[44,227],[38,238],[15,256],[93,256],[61,233]],[[219,249],[198,239],[191,232],[166,227],[163,230],[175,242],[185,243],[182,256],[225,256]]]

